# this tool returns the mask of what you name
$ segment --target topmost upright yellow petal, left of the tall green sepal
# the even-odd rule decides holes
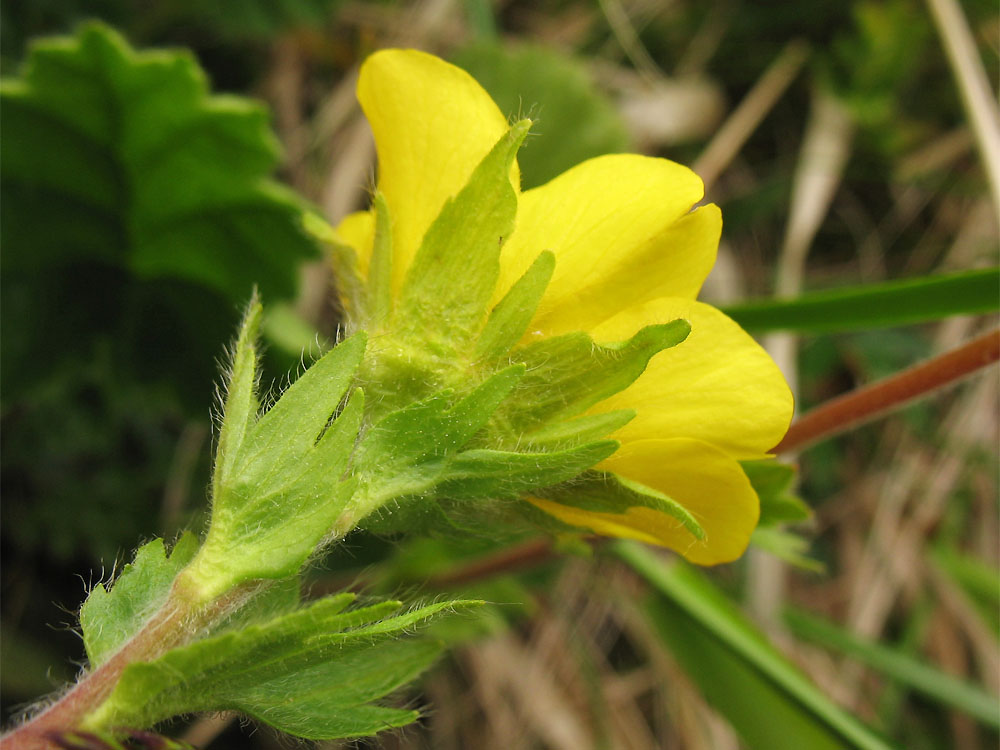
[[[416,50],[369,57],[358,100],[375,135],[398,291],[427,228],[507,132],[507,119],[472,76]],[[511,181],[519,187],[516,165]]]

